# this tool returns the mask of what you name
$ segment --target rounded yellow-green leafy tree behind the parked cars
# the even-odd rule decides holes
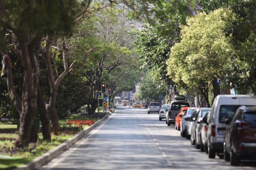
[[[181,30],[182,40],[171,48],[168,60],[168,75],[173,81],[199,87],[205,95],[207,84],[215,85],[217,77],[225,82],[224,67],[232,52],[222,30],[228,26],[228,22],[222,20],[227,13],[216,10],[209,15],[202,13],[188,20],[189,27],[184,26]],[[218,94],[220,91],[217,89],[214,97]],[[230,94],[228,85],[225,94]]]

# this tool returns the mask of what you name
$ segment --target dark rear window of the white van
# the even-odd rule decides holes
[[[238,105],[221,105],[219,113],[219,123],[225,123],[225,119],[233,118]]]

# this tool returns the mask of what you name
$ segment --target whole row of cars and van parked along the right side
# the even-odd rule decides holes
[[[217,154],[231,165],[256,160],[256,96],[218,95],[212,108],[198,108],[190,107],[185,96],[179,95],[162,105],[162,119],[209,158]]]

